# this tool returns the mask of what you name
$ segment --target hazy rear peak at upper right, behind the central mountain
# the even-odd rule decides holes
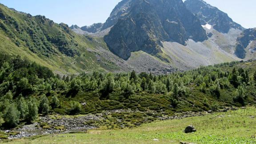
[[[203,0],[186,0],[184,4],[188,10],[198,17],[202,25],[211,24],[218,32],[228,33],[230,28],[244,30],[240,24],[235,23],[228,17],[228,14]]]

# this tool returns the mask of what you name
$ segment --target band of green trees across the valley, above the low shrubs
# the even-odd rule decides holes
[[[219,99],[222,89],[234,89],[234,102],[245,104],[247,87],[255,86],[256,72],[249,76],[249,69],[233,68],[232,72],[222,67],[232,68],[239,62],[200,67],[187,72],[167,75],[152,73],[82,73],[79,76],[55,75],[48,68],[21,59],[20,56],[0,55],[0,125],[15,127],[21,122],[32,123],[38,115],[47,115],[55,108],[62,107],[60,95],[51,92],[64,92],[66,97],[77,93],[98,92],[100,100],[108,100],[117,92],[115,100],[130,99],[133,94],[168,95],[170,105],[176,108],[182,96],[189,96],[191,86],[200,92],[211,92]],[[205,100],[205,104],[207,104]],[[68,114],[79,114],[82,105],[69,102]]]

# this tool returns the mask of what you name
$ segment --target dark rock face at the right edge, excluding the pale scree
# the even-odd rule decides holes
[[[236,56],[244,59],[246,56],[245,48],[248,47],[252,40],[256,40],[256,28],[249,28],[244,30],[237,38],[236,43]]]

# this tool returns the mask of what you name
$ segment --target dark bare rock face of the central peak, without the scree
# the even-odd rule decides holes
[[[185,44],[188,39],[207,39],[200,20],[182,0],[123,0],[111,13],[103,28],[111,27],[104,37],[109,49],[127,60],[131,52],[161,52],[161,41]]]

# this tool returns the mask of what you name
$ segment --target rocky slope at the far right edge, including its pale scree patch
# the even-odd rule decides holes
[[[244,30],[236,41],[236,56],[241,59],[255,59],[256,28]]]

